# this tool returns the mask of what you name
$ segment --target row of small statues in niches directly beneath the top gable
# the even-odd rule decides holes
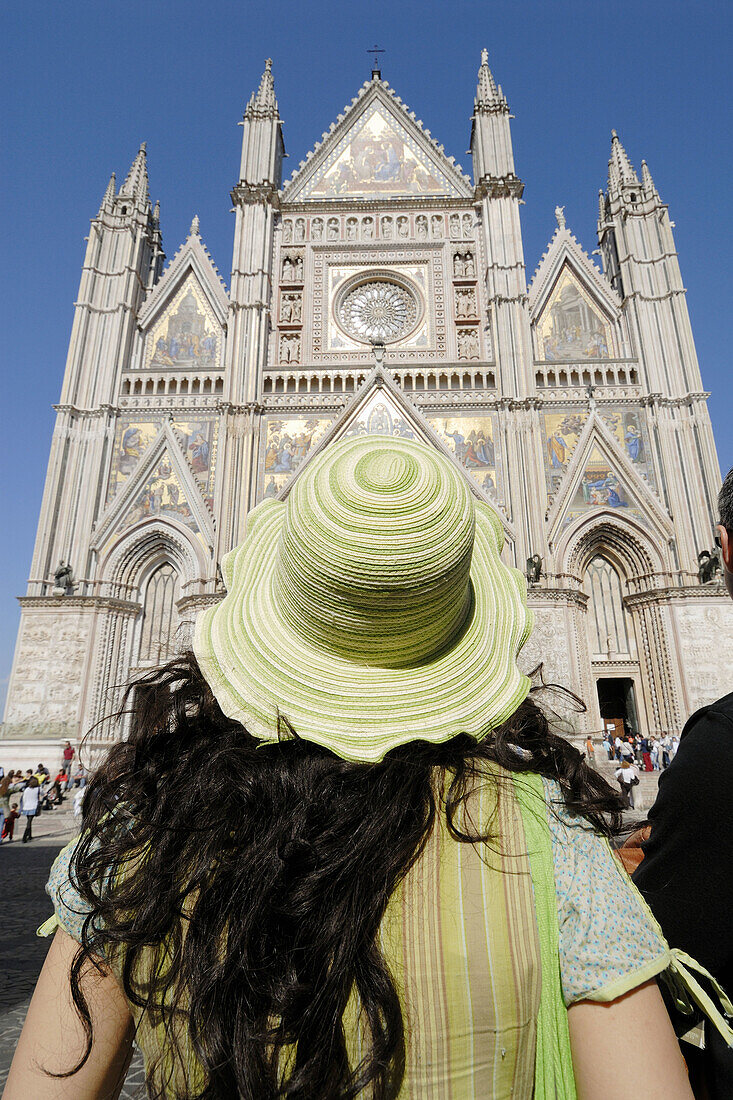
[[[418,238],[434,240],[446,235],[451,240],[472,240],[475,232],[475,216],[473,213],[415,215],[368,215],[361,219],[354,217],[331,218],[284,218],[283,244],[302,244],[311,241],[383,241],[406,240]]]

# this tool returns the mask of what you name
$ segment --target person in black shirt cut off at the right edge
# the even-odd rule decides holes
[[[718,498],[725,585],[733,598],[733,470]],[[710,645],[714,646],[713,638]],[[634,873],[670,944],[733,992],[733,693],[688,719],[677,755],[659,778],[652,833]],[[733,1097],[733,1049],[705,1026],[699,1066],[710,1100]],[[702,1088],[707,1088],[707,1092]]]

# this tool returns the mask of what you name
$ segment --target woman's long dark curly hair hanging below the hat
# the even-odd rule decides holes
[[[491,839],[458,821],[493,761],[558,780],[589,828],[621,822],[619,795],[532,697],[479,744],[414,741],[350,763],[284,719],[262,746],[186,654],[129,689],[124,722],[129,736],[88,787],[72,861],[91,908],[70,975],[87,1050],[61,1076],[92,1044],[80,976],[114,960],[129,1003],[164,1028],[146,1068],[155,1100],[396,1097],[404,1023],[378,932],[436,814],[458,842]],[[371,1040],[357,1066],[342,1026],[352,990]]]

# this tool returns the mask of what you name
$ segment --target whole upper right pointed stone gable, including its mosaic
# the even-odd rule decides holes
[[[565,226],[558,227],[529,284],[537,358],[613,359],[621,354],[621,301]]]

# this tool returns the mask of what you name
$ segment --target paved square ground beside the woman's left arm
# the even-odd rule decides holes
[[[20,831],[19,831],[19,827]],[[33,987],[48,950],[50,939],[35,930],[51,916],[45,892],[48,870],[56,855],[74,836],[70,810],[41,814],[33,824],[33,840],[22,844],[24,818],[15,824],[15,839],[0,845],[2,882],[2,936],[0,936],[0,1092],[4,1088]],[[135,1052],[121,1097],[144,1097],[142,1059]],[[30,1100],[30,1098],[29,1098]]]

